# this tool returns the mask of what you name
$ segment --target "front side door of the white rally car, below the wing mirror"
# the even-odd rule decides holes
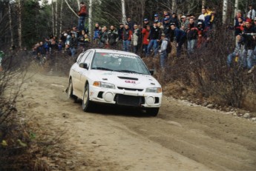
[[[93,51],[91,51],[88,56],[85,58],[84,63],[88,64],[89,69],[88,70],[82,70],[82,72],[80,73],[80,78],[79,78],[79,88],[81,88],[81,91],[83,91],[85,89],[85,82],[88,79],[88,73],[91,72],[91,61],[93,58]]]

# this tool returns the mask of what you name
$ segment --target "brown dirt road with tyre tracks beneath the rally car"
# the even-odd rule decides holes
[[[68,100],[68,78],[35,75],[18,109],[49,138],[52,170],[256,170],[256,124],[164,96],[157,117]]]

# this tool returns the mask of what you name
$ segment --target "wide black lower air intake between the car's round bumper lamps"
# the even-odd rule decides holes
[[[116,104],[122,106],[140,107],[144,103],[144,97],[141,96],[116,94]]]

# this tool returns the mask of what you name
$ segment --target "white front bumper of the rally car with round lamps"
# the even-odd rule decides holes
[[[145,93],[145,90],[105,89],[89,87],[89,99],[105,104],[131,107],[160,107],[163,93]]]

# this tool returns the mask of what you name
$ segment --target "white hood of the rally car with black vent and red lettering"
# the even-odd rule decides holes
[[[121,73],[105,70],[91,70],[93,78],[99,81],[115,84],[116,87],[145,88],[161,87],[159,82],[150,75],[137,73]]]

